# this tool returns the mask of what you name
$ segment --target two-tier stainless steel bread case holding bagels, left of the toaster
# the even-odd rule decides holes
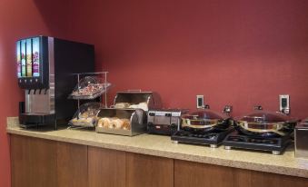
[[[146,113],[161,107],[161,97],[157,93],[118,92],[114,97],[114,105],[101,109],[98,113],[95,131],[127,136],[146,133]]]

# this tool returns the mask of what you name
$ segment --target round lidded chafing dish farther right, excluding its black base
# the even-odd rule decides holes
[[[244,134],[277,137],[293,132],[298,121],[282,113],[255,111],[235,118],[236,129]]]

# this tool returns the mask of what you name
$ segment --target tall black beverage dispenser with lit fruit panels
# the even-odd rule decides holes
[[[22,127],[67,123],[77,109],[67,99],[76,84],[73,74],[94,72],[94,45],[49,36],[16,42],[17,77],[25,89],[19,103]]]

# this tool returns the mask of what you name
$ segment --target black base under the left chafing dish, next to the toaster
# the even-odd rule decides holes
[[[171,140],[173,143],[208,144],[210,147],[216,148],[223,143],[225,136],[231,132],[233,132],[233,128],[219,133],[192,133],[180,130],[171,136]]]

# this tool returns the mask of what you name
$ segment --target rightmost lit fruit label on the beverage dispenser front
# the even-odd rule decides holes
[[[32,39],[32,71],[33,76],[40,76],[40,38],[35,37]]]

